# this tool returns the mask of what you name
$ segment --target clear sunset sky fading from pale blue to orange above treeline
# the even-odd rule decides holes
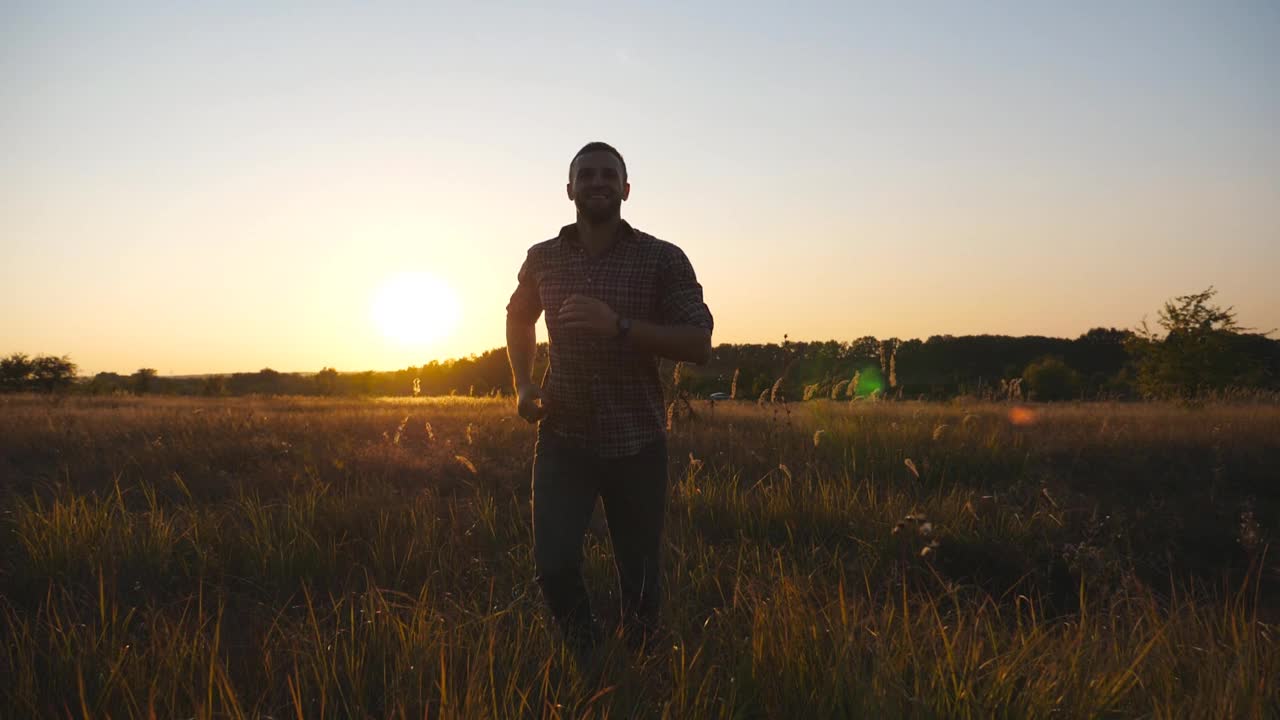
[[[0,1],[0,354],[500,347],[593,140],[717,343],[1075,337],[1210,284],[1271,329],[1277,128],[1272,1]],[[431,332],[378,315],[406,273]]]

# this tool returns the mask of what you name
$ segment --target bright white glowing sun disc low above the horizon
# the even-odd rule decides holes
[[[411,347],[444,340],[458,325],[457,293],[429,273],[388,278],[374,295],[370,310],[387,338]]]

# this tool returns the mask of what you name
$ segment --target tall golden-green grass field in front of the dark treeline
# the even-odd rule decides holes
[[[499,400],[0,398],[8,717],[1266,717],[1280,407],[695,404],[598,682]],[[608,615],[605,536],[586,546]]]

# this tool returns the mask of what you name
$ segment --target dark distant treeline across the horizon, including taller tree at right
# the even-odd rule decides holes
[[[719,345],[712,361],[684,365],[680,388],[694,396],[744,400],[956,396],[1016,400],[1132,400],[1234,391],[1280,391],[1280,341],[1244,332],[1230,307],[1208,304],[1210,288],[1170,301],[1162,333],[1094,328],[1075,340],[1010,336],[934,336],[928,340]],[[547,368],[539,346],[535,377]],[[663,361],[669,384],[677,374]],[[77,378],[69,359],[14,354],[0,360],[5,391],[156,395],[488,396],[511,393],[506,348],[394,372],[233,373]]]

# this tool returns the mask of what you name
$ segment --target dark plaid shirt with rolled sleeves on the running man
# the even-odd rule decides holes
[[[550,432],[600,457],[626,457],[662,437],[666,428],[658,357],[561,327],[564,299],[595,297],[623,318],[712,329],[703,286],[689,258],[675,245],[643,233],[626,220],[600,258],[590,258],[577,225],[529,249],[507,316],[536,323],[544,309],[550,364],[543,377],[547,415],[539,433]]]

